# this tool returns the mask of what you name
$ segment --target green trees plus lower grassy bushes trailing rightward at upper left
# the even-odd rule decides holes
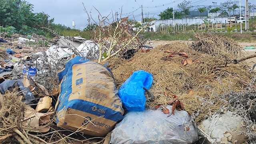
[[[62,36],[82,36],[90,38],[90,30],[96,25],[87,26],[84,31],[74,30],[62,24],[54,24],[54,18],[50,19],[44,12],[34,13],[33,5],[25,0],[0,0],[0,32],[6,32],[6,36],[14,33],[31,35],[33,33],[52,37],[50,28]]]

